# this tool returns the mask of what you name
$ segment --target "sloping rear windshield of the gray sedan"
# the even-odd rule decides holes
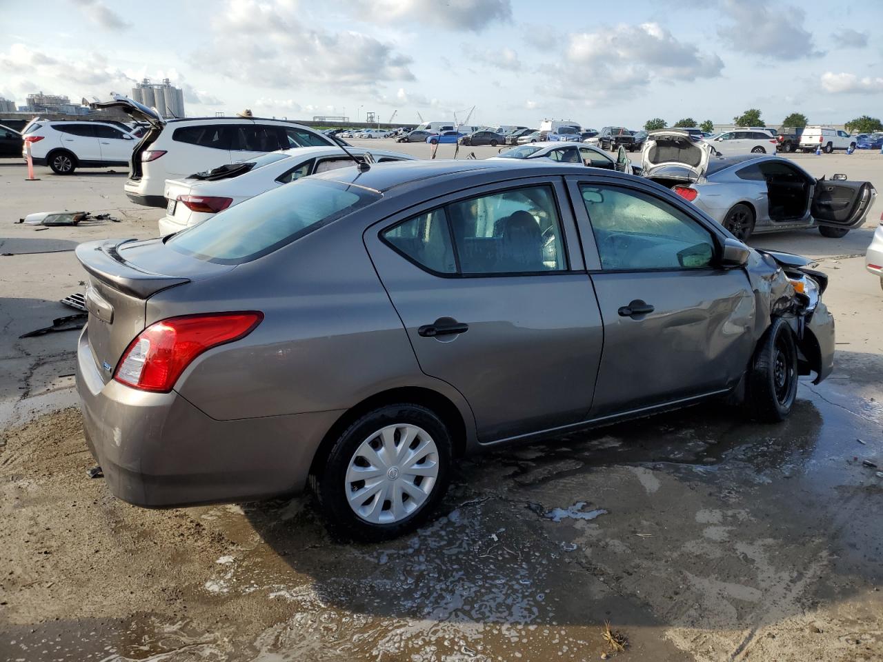
[[[199,260],[241,264],[291,244],[380,197],[357,186],[304,179],[215,214],[178,232],[166,244]]]

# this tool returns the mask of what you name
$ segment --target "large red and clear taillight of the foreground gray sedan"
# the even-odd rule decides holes
[[[144,391],[168,393],[194,358],[244,338],[263,319],[262,312],[219,312],[156,322],[129,343],[113,378]]]

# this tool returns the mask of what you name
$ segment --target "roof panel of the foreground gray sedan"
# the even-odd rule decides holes
[[[551,169],[551,170],[550,170]],[[505,175],[513,177],[532,177],[535,175],[567,175],[573,174],[572,165],[561,165],[554,161],[535,159],[522,161],[517,159],[438,159],[435,161],[402,161],[383,163],[381,167],[360,171],[356,168],[328,170],[311,179],[328,179],[341,184],[355,184],[382,193],[392,192],[404,184],[424,181],[438,177],[474,177],[479,174]],[[605,171],[606,172],[606,171]],[[620,174],[620,173],[616,173]]]

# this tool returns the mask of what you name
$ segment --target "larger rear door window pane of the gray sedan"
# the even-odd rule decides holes
[[[561,222],[547,186],[455,202],[448,206],[448,214],[463,274],[567,268]]]

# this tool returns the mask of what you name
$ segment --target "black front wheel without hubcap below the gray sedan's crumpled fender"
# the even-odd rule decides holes
[[[758,342],[745,380],[749,416],[766,423],[788,418],[797,398],[797,348],[788,322],[774,318]]]

